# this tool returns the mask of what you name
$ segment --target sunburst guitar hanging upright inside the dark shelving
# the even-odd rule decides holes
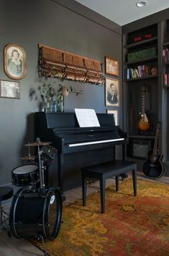
[[[142,111],[140,112],[138,121],[139,132],[147,132],[150,129],[150,121],[145,113],[145,93],[146,88],[142,87]]]

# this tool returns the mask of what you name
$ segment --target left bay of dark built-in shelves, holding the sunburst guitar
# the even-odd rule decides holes
[[[146,38],[145,37],[150,37]],[[135,42],[135,40],[140,40]],[[158,121],[158,31],[157,24],[124,35],[124,125],[129,132],[127,154],[135,158],[134,150],[148,150],[155,138]],[[135,59],[132,59],[134,58]],[[129,58],[132,61],[129,61]],[[142,90],[145,90],[145,111],[150,121],[146,132],[138,129],[142,112]],[[142,156],[141,156],[142,155]],[[138,153],[144,159],[146,153]],[[137,157],[137,156],[136,156]]]

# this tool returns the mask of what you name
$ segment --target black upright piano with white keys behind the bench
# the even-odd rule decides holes
[[[75,113],[35,113],[35,135],[50,141],[58,157],[48,168],[50,187],[64,191],[81,186],[80,168],[115,158],[115,145],[128,141],[127,133],[114,124],[113,114],[96,114],[100,127],[81,128]]]

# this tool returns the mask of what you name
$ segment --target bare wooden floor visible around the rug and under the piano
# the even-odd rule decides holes
[[[138,173],[141,179],[147,179],[143,174]],[[148,179],[151,182],[155,180]],[[169,184],[169,177],[161,177],[157,182],[165,182]],[[107,179],[106,186],[114,184],[114,179]],[[88,186],[87,193],[90,194],[99,188],[99,182],[95,182]],[[81,187],[65,192],[66,201],[64,203],[73,202],[81,198]],[[9,210],[10,204],[4,205],[6,211]],[[31,209],[30,209],[31,210]],[[17,239],[14,236],[9,237],[5,230],[0,229],[0,256],[39,256],[44,255],[43,252],[25,239]]]

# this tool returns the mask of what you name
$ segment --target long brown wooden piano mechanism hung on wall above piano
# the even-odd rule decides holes
[[[39,74],[45,77],[60,77],[61,80],[76,80],[104,83],[102,64],[76,54],[70,54],[48,46],[39,46]]]

